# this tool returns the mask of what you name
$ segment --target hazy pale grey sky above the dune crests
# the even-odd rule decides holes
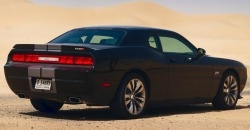
[[[250,0],[32,0],[40,4],[66,7],[109,6],[130,1],[157,2],[170,9],[192,14],[235,13],[250,16]]]

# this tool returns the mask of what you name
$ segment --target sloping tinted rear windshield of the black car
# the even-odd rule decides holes
[[[49,43],[117,45],[125,32],[115,30],[75,29],[62,34]]]

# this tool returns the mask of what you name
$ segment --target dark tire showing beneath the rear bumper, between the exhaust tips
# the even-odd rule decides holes
[[[44,113],[57,112],[63,106],[62,102],[45,99],[30,99],[30,102],[36,110]]]

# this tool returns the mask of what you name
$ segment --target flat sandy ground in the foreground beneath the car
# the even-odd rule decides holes
[[[249,91],[248,91],[249,92]],[[65,105],[56,114],[35,111],[29,100],[1,96],[0,129],[220,129],[250,128],[250,97],[244,95],[235,110],[214,110],[211,104],[149,109],[140,119],[119,120],[106,107]]]

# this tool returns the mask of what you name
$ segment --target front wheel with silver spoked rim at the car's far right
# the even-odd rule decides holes
[[[233,72],[226,72],[220,81],[217,94],[212,102],[214,108],[234,109],[239,97],[239,81]]]

